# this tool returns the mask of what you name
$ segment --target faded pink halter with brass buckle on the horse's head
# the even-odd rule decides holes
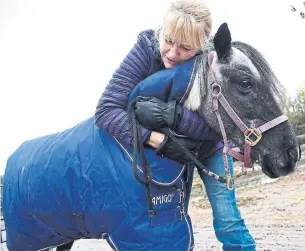
[[[218,124],[220,127],[220,131],[223,137],[224,148],[223,148],[223,160],[224,166],[226,170],[226,177],[227,177],[227,187],[228,189],[232,190],[234,188],[233,180],[229,171],[229,163],[227,154],[231,155],[233,158],[240,160],[244,163],[245,167],[251,166],[251,147],[257,145],[259,141],[262,139],[262,134],[273,127],[285,122],[288,120],[286,115],[280,115],[277,118],[257,127],[257,128],[249,128],[245,125],[245,123],[239,118],[233,108],[230,106],[226,98],[223,96],[221,92],[221,86],[217,84],[215,73],[213,71],[213,58],[215,55],[215,51],[212,51],[208,55],[208,64],[209,64],[209,75],[211,78],[211,86],[212,86],[212,96],[213,96],[213,109],[216,114]],[[233,120],[233,122],[238,126],[238,128],[243,132],[245,141],[244,141],[244,154],[235,152],[232,150],[228,145],[228,138],[225,131],[225,127],[223,121],[221,119],[218,106],[219,103],[225,109],[227,114]]]

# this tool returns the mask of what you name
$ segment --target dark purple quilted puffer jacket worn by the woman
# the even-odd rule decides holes
[[[115,136],[121,143],[132,145],[132,132],[126,112],[132,89],[147,76],[163,69],[158,42],[153,30],[142,31],[136,44],[125,57],[106,86],[95,112],[97,127]],[[151,131],[142,127],[143,142]],[[183,108],[177,133],[193,139],[216,139],[212,129],[196,112]]]

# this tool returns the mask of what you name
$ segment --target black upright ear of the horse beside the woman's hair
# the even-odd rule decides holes
[[[231,32],[227,23],[223,23],[218,28],[214,36],[214,47],[220,62],[226,62],[231,54]]]

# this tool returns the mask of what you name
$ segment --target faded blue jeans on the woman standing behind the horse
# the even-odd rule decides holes
[[[234,177],[232,157],[228,156],[228,160],[231,175]],[[222,153],[207,159],[203,164],[212,172],[225,176]],[[254,251],[255,242],[237,208],[235,191],[229,191],[225,184],[209,176],[203,177],[203,183],[213,210],[215,234],[223,244],[223,250]]]

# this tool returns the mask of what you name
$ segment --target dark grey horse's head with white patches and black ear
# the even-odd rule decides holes
[[[297,139],[281,109],[283,88],[262,55],[245,43],[231,42],[228,26],[222,24],[202,60],[207,79],[201,84],[204,98],[199,112],[208,124],[223,134],[213,105],[213,94],[215,98],[221,90],[229,104],[224,109],[225,105],[216,98],[227,138],[240,149],[244,149],[245,141],[253,145],[251,160],[260,160],[269,177],[292,172],[299,155]],[[230,117],[233,110],[237,116]],[[245,126],[257,130],[246,132]]]

